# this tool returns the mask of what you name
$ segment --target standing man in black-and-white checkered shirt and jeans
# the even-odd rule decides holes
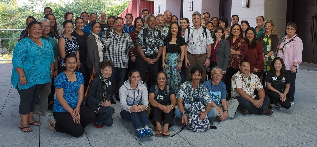
[[[113,83],[114,79],[116,79],[116,93],[113,92],[110,84],[109,95],[112,96],[114,93],[116,100],[120,101],[119,89],[123,85],[126,69],[128,68],[128,53],[130,49],[134,48],[130,35],[123,31],[123,18],[117,17],[114,19],[113,29],[109,31],[108,36],[107,32],[102,35],[101,42],[105,46],[104,60],[111,60],[114,63],[109,81]],[[116,104],[112,98],[110,102],[111,104]]]

